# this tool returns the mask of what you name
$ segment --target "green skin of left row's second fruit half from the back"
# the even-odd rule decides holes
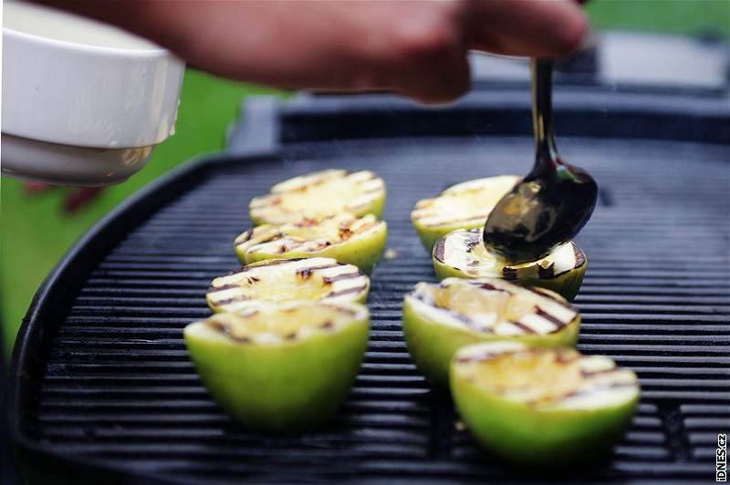
[[[292,259],[292,258],[333,258],[339,263],[354,264],[360,271],[370,274],[375,266],[381,262],[382,253],[388,242],[388,227],[381,224],[378,231],[367,237],[354,237],[346,242],[333,244],[321,251],[287,253],[264,253],[260,251],[241,251],[237,247],[235,253],[242,264],[258,263],[268,259]]]

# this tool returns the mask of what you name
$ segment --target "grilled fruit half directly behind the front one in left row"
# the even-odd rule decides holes
[[[205,299],[214,312],[259,302],[327,300],[365,303],[370,278],[332,258],[272,259],[215,278]]]

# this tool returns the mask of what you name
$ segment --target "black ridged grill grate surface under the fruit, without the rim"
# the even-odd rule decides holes
[[[560,480],[710,480],[716,434],[730,423],[728,149],[561,141],[602,189],[579,237],[589,255],[579,349],[631,366],[643,396],[610,462]],[[402,295],[434,281],[411,227],[414,202],[475,176],[527,171],[530,150],[521,137],[371,139],[290,145],[279,160],[199,170],[190,191],[120,239],[57,316],[27,438],[71,460],[206,483],[534,478],[506,470],[454,427],[449,398],[412,365],[400,322]],[[237,265],[232,242],[250,198],[326,167],[385,179],[397,256],[373,274],[370,346],[337,418],[299,437],[250,433],[207,396],[181,331],[209,315],[205,289]]]

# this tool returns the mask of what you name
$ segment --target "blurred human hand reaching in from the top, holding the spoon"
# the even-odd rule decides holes
[[[574,0],[42,1],[149,37],[221,76],[426,102],[469,88],[469,49],[557,57],[588,28]]]

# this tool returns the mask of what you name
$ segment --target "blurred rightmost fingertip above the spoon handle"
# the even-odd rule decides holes
[[[467,3],[472,48],[529,57],[559,57],[575,50],[588,21],[573,0],[473,0]]]

